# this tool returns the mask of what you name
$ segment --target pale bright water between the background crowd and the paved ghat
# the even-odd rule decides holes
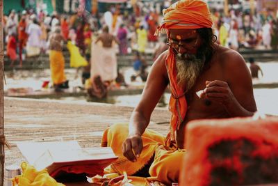
[[[278,61],[272,61],[267,63],[260,63],[263,70],[263,77],[259,76],[259,79],[253,79],[254,84],[266,84],[266,83],[278,83]],[[249,65],[249,64],[247,64]],[[134,73],[132,68],[122,68],[122,73],[126,79],[127,84],[133,84],[134,86],[142,86],[142,82],[130,82],[130,77]],[[66,69],[65,70],[67,79],[70,79],[70,86],[82,86],[81,79],[74,79],[75,70]],[[12,74],[12,72],[6,73],[6,82],[4,84],[4,91],[8,88],[31,88],[33,91],[40,91],[41,85],[44,81],[49,81],[50,71],[49,70],[20,70]],[[278,115],[278,88],[254,88],[254,97],[259,111],[267,114]],[[108,102],[121,106],[135,107],[140,100],[141,95],[121,95],[121,96],[111,96],[107,100],[102,102]],[[165,94],[165,103],[158,104],[158,107],[167,109],[167,102],[170,98],[170,94]],[[87,102],[85,97],[67,97],[60,98],[60,100],[70,100],[74,102]]]

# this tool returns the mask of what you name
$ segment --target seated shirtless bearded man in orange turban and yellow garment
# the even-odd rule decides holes
[[[214,43],[212,24],[208,7],[200,0],[178,1],[164,10],[158,32],[167,31],[170,49],[154,62],[129,126],[112,125],[104,132],[101,145],[111,146],[119,156],[106,173],[126,171],[166,185],[177,183],[188,121],[254,114],[252,79],[245,61],[238,52]],[[164,138],[146,128],[168,84],[172,118]]]

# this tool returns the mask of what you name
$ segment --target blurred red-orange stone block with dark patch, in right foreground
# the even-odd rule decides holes
[[[278,183],[278,117],[191,121],[179,185]]]

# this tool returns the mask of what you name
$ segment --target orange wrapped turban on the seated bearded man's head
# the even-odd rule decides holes
[[[161,29],[200,29],[211,28],[213,21],[208,6],[201,0],[180,0],[163,10]]]

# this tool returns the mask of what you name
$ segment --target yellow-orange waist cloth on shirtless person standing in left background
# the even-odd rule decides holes
[[[65,59],[63,53],[56,50],[49,52],[51,79],[54,84],[62,84],[65,82]]]

